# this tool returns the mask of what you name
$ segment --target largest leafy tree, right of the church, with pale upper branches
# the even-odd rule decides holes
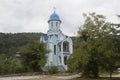
[[[68,60],[70,70],[82,71],[83,77],[98,77],[100,68],[113,72],[120,62],[120,38],[116,28],[103,15],[84,14],[78,30],[77,45]]]

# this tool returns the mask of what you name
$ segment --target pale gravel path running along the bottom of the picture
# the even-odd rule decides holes
[[[50,76],[50,75],[14,76],[14,77],[0,77],[0,80],[69,80],[79,76],[80,74],[70,76]],[[109,77],[109,75],[101,75],[101,77]],[[113,75],[112,77],[120,77],[120,74]]]

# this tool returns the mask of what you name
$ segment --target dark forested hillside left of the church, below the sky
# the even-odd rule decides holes
[[[0,33],[0,54],[14,56],[17,48],[39,41],[42,33]]]

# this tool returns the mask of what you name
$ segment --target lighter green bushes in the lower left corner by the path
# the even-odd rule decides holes
[[[15,59],[0,55],[0,74],[11,74],[22,72],[22,65]]]

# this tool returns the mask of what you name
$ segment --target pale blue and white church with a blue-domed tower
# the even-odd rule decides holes
[[[47,35],[41,36],[41,41],[46,43],[46,48],[49,51],[46,54],[47,62],[44,67],[46,69],[50,66],[57,66],[59,71],[66,71],[67,59],[73,52],[72,39],[62,33],[60,29],[61,23],[60,17],[54,11],[48,20],[49,29]]]

